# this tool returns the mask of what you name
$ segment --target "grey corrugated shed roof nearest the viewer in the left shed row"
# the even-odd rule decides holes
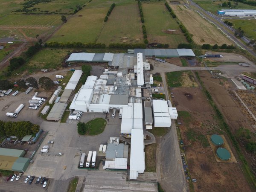
[[[48,121],[59,121],[66,108],[66,103],[55,103],[46,119]]]

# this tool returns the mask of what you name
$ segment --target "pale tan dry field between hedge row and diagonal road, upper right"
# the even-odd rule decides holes
[[[188,32],[193,35],[192,39],[196,44],[233,44],[215,26],[203,19],[195,11],[186,9],[185,6],[172,5],[171,7]]]

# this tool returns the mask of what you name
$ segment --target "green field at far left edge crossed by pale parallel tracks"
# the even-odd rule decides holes
[[[61,25],[60,15],[6,15],[0,20],[0,38],[17,35],[18,38],[40,38]]]

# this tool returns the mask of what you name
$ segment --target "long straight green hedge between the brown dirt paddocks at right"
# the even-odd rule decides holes
[[[246,170],[246,173],[250,177],[250,180],[252,181],[252,183],[255,187],[256,186],[256,178],[255,178],[255,176],[253,175],[253,172],[251,172],[251,170],[248,166],[247,160],[245,159],[244,154],[242,153],[241,148],[239,147],[239,143],[237,142],[236,137],[234,137],[233,133],[230,131],[230,127],[229,127],[229,125],[227,125],[221,111],[219,111],[218,107],[215,105],[215,103],[212,99],[211,93],[209,93],[209,91],[204,87],[204,83],[203,83],[203,81],[201,81],[200,76],[198,75],[198,72],[195,72],[195,75],[198,78],[198,81],[200,82],[200,84],[203,88],[203,91],[204,91],[204,93],[206,94],[206,96],[209,100],[210,105],[212,106],[215,113],[217,114],[218,119],[219,119],[220,123],[222,124],[222,127],[225,129],[228,137],[230,138],[230,140],[233,143],[233,146],[236,148],[236,152],[239,155],[239,159],[243,163],[243,166]]]

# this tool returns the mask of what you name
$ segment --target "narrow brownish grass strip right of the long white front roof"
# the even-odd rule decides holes
[[[145,172],[156,172],[157,144],[145,145]]]

